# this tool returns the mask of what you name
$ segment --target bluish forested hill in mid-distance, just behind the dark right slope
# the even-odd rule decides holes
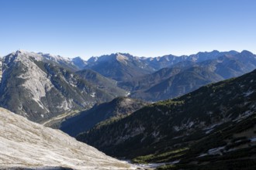
[[[181,73],[171,76],[161,83],[143,91],[134,91],[131,97],[145,100],[167,100],[170,98],[182,96],[192,90],[196,90],[208,83],[218,82],[223,78],[216,73],[206,70],[202,67],[192,67]]]

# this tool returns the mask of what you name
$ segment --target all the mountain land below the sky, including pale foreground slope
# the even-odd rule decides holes
[[[138,168],[98,148],[158,169],[254,169],[255,69],[246,50],[10,53],[0,58],[0,168]]]

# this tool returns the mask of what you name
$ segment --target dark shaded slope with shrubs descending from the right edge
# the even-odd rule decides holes
[[[175,169],[255,167],[255,82],[256,70],[213,83],[99,124],[78,140],[134,162],[180,162]]]

